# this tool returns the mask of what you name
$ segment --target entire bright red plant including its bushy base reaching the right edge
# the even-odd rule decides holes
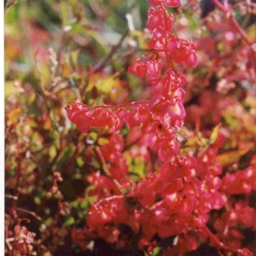
[[[88,193],[97,199],[88,210],[84,237],[88,243],[104,239],[116,249],[131,246],[131,236],[136,237],[135,248],[150,254],[158,248],[161,255],[184,255],[209,243],[220,255],[253,255],[239,243],[244,226],[255,229],[255,209],[232,196],[256,189],[255,166],[223,172],[218,161],[218,148],[226,138],[221,125],[209,140],[184,129],[186,76],[175,72],[173,65],[196,67],[196,45],[172,34],[174,15],[166,6],[176,8],[179,1],[148,2],[152,6],[146,26],[152,31],[148,42],[152,50],[136,58],[128,71],[147,77],[152,97],[118,106],[77,101],[66,108],[79,131],[111,130],[107,130],[108,141],[93,146],[92,156],[104,173],[97,170],[88,177],[93,186]],[[126,136],[125,126],[129,127]],[[132,140],[136,147],[131,147]],[[131,161],[141,157],[145,162],[144,166],[134,164],[135,169],[142,169],[135,171],[143,173],[141,177],[132,177],[127,157]],[[129,236],[124,227],[130,230]],[[168,246],[161,247],[168,237]]]

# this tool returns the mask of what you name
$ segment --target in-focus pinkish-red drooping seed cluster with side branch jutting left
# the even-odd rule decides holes
[[[200,236],[205,235],[219,248],[234,252],[206,227],[209,212],[219,210],[227,203],[225,189],[232,187],[233,181],[228,183],[228,180],[234,180],[227,176],[222,183],[218,177],[222,173],[216,160],[218,143],[211,145],[198,159],[193,154],[179,154],[176,130],[182,126],[186,115],[185,91],[182,89],[186,77],[175,73],[172,61],[195,67],[195,44],[170,33],[173,15],[168,15],[164,4],[177,7],[179,1],[148,2],[154,6],[148,10],[147,22],[153,35],[148,43],[152,51],[137,58],[128,70],[139,77],[148,76],[152,98],[120,106],[92,107],[74,102],[66,108],[68,118],[80,131],[106,125],[113,131],[109,143],[100,145],[97,150],[108,177],[100,172],[88,177],[88,182],[95,185],[90,194],[97,195],[98,200],[88,212],[86,234],[92,239],[101,237],[115,243],[116,248],[122,248],[129,240],[122,233],[125,225],[132,234],[141,230],[138,248],[148,252],[157,245],[156,237],[173,236],[171,250],[180,253],[195,250]],[[159,52],[165,59],[159,58]],[[163,61],[167,63],[166,70],[163,70]],[[155,164],[138,180],[129,179],[123,154],[124,138],[116,134],[124,123],[130,129],[140,127],[143,138],[147,138],[148,151],[155,152],[160,163],[157,170]],[[198,229],[201,231],[195,235]],[[246,255],[248,252],[241,250],[239,253]]]

